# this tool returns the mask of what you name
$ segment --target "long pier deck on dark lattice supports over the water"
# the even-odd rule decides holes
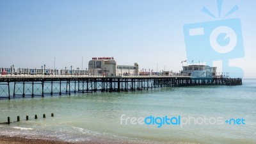
[[[193,85],[240,85],[242,79],[189,76],[6,76],[0,77],[0,99],[70,93],[127,92]]]

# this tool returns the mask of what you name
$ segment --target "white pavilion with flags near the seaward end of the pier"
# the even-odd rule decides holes
[[[183,66],[181,73],[191,77],[214,77],[216,70],[217,67],[209,67],[208,65],[188,65]]]

